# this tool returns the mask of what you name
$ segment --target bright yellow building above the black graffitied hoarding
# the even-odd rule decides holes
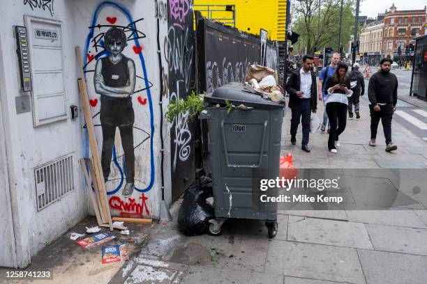
[[[233,12],[225,5],[234,5],[237,29],[257,35],[264,29],[269,40],[285,41],[286,0],[194,0],[204,17],[232,25]]]

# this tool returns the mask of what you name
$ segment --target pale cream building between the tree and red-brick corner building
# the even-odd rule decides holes
[[[383,26],[382,20],[370,22],[361,33],[359,53],[364,54],[363,63],[376,65],[381,61]]]

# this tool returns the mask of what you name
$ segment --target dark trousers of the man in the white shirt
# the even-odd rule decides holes
[[[295,106],[292,110],[292,118],[291,118],[291,136],[294,137],[297,135],[297,129],[299,125],[299,120],[301,120],[302,116],[302,132],[303,139],[302,145],[308,144],[308,139],[310,135],[310,116],[311,116],[311,108],[310,108],[311,99],[299,99],[297,100]]]

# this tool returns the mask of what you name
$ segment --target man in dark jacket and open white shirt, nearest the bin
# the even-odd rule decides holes
[[[302,116],[303,139],[301,149],[310,152],[308,139],[310,134],[310,112],[317,109],[317,84],[313,70],[313,56],[303,57],[303,66],[293,72],[287,80],[285,89],[289,93],[289,107],[292,110],[291,143],[297,143],[296,135]]]

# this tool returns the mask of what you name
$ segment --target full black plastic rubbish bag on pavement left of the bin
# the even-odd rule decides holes
[[[213,198],[212,180],[202,177],[192,184],[183,196],[178,212],[178,227],[186,235],[208,232],[209,220],[213,219],[213,208],[207,199]]]

